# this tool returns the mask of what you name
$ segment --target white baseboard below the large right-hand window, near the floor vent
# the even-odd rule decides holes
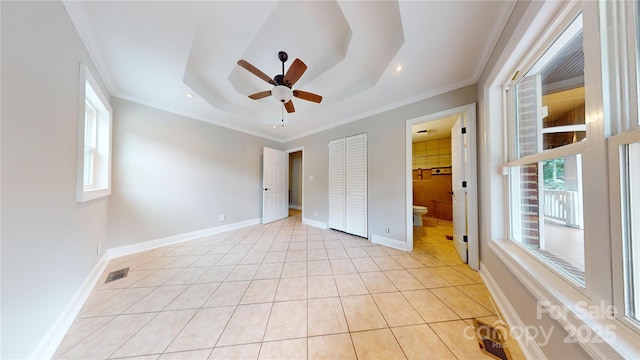
[[[511,306],[509,299],[502,292],[498,283],[496,283],[493,276],[491,276],[491,273],[487,270],[487,267],[482,264],[482,262],[480,263],[480,276],[491,293],[491,297],[496,301],[498,308],[500,308],[502,315],[504,315],[505,321],[509,327],[512,329],[514,327],[524,329],[525,324],[522,322],[518,313],[515,311],[513,306]],[[536,339],[531,338],[529,333],[526,331],[524,334],[526,338],[514,339],[518,342],[518,346],[520,346],[520,350],[522,350],[524,357],[526,359],[546,359],[547,357],[544,355],[544,352],[542,352],[540,346],[538,346]]]

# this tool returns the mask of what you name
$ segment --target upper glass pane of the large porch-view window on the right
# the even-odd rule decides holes
[[[517,158],[586,138],[579,16],[516,84]]]

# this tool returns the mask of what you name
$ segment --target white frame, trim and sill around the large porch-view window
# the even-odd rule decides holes
[[[590,1],[531,3],[521,18],[521,24],[524,25],[516,27],[512,33],[513,37],[508,40],[502,55],[497,59],[497,66],[487,75],[483,86],[486,104],[486,108],[483,109],[486,119],[483,131],[485,136],[493,140],[482,149],[481,161],[487,171],[483,178],[485,183],[483,190],[488,194],[488,197],[484,197],[482,206],[483,210],[490,214],[483,221],[482,235],[488,239],[488,248],[510,269],[513,276],[538,300],[539,304],[546,303],[552,307],[568,310],[566,316],[553,317],[547,314],[546,317],[555,320],[569,334],[575,334],[576,330],[587,330],[590,339],[596,340],[577,342],[586,353],[594,358],[633,358],[640,352],[638,334],[619,317],[611,314],[613,274],[612,267],[608,263],[612,255],[610,243],[589,240],[588,230],[585,228],[587,284],[586,288],[580,288],[537,261],[522,246],[508,240],[510,230],[509,221],[506,220],[510,216],[508,178],[505,176],[508,168],[505,164],[508,162],[507,155],[511,149],[508,141],[510,133],[506,126],[510,121],[508,116],[510,109],[506,91],[508,88],[505,84],[509,84],[516,71],[531,68],[551,41],[558,37],[581,8],[584,19],[584,51],[585,58],[588,58],[586,62],[589,64],[588,69],[585,68],[585,84],[588,86],[585,89],[588,116],[586,127],[589,132],[586,141],[588,142],[565,146],[567,149],[563,151],[579,151],[583,154],[591,154],[592,157],[595,154],[598,168],[602,168],[603,171],[596,174],[586,170],[586,176],[593,174],[597,181],[589,179],[585,184],[585,193],[592,196],[600,191],[596,198],[602,200],[604,197],[606,200],[602,201],[596,209],[585,209],[585,222],[593,221],[594,211],[600,211],[600,218],[595,219],[598,225],[591,224],[590,238],[607,239],[609,237],[611,223],[608,216],[602,216],[609,213],[609,195],[601,194],[603,193],[602,184],[607,184],[609,178],[606,169],[608,155],[605,149],[607,148],[606,136],[610,133],[604,128],[603,120],[602,98],[603,93],[607,93],[607,89],[603,89],[604,80],[601,70],[603,59],[600,58],[601,39],[599,38],[601,29],[598,25],[601,19],[598,7],[598,2]],[[584,149],[575,148],[583,146]],[[544,157],[544,155],[541,156]],[[585,175],[583,175],[584,179]],[[597,259],[604,261],[601,261],[599,266],[594,266],[593,263]],[[585,316],[584,307],[588,307],[593,312]],[[528,340],[535,343],[535,339]],[[521,346],[523,346],[522,343]]]

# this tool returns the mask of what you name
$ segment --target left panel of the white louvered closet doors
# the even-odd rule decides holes
[[[329,227],[346,231],[345,139],[329,142]]]

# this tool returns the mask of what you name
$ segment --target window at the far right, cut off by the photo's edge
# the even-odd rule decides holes
[[[640,7],[633,2],[602,5],[614,19],[607,39],[618,39],[603,69],[611,90],[609,173],[614,259],[614,305],[618,317],[640,333]]]

